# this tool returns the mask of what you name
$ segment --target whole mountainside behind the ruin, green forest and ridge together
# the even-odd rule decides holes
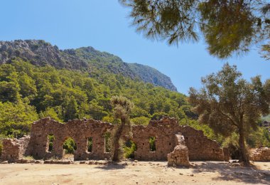
[[[237,133],[227,139],[215,134],[207,125],[198,124],[198,115],[188,104],[188,97],[153,85],[153,77],[161,74],[157,70],[128,65],[117,56],[90,47],[59,51],[43,41],[38,44],[41,46],[36,46],[35,53],[28,46],[15,50],[15,46],[0,47],[0,152],[1,138],[28,134],[31,123],[42,117],[50,116],[60,122],[84,117],[119,122],[112,115],[110,99],[114,95],[134,102],[134,125],[146,125],[151,119],[168,115],[176,117],[181,125],[202,129],[210,139],[237,149]],[[149,76],[154,82],[145,83],[138,76]],[[249,134],[247,144],[270,147],[270,134],[259,128]]]

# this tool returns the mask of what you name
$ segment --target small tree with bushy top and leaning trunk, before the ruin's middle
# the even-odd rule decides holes
[[[112,106],[114,107],[114,117],[121,120],[119,125],[114,127],[112,133],[112,161],[118,162],[121,153],[120,138],[126,125],[131,129],[131,122],[129,120],[129,114],[131,113],[133,103],[123,96],[114,96],[111,99]]]

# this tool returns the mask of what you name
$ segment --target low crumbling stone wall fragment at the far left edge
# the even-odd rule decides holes
[[[26,156],[30,137],[25,136],[21,139],[4,139],[1,154],[2,161],[16,162]]]

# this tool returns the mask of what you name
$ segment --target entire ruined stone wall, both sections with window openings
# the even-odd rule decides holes
[[[33,122],[31,127],[31,137],[28,143],[11,144],[7,140],[4,142],[4,158],[14,152],[20,156],[33,156],[35,159],[48,159],[50,157],[63,157],[63,143],[68,137],[72,137],[77,144],[77,150],[74,154],[75,160],[86,159],[108,159],[109,153],[105,151],[106,132],[111,132],[113,125],[108,122],[96,120],[70,120],[67,123],[56,122],[50,118],[44,118]],[[174,118],[164,117],[161,120],[151,120],[144,126],[134,126],[132,128],[133,141],[136,143],[135,159],[139,160],[167,160],[168,154],[176,150],[180,152],[188,149],[188,157],[191,160],[217,160],[224,161],[229,159],[227,150],[222,150],[217,142],[207,139],[202,131],[192,127],[179,126]],[[48,135],[53,134],[53,150],[49,152]],[[185,144],[175,139],[176,135],[183,135]],[[92,137],[92,152],[87,151],[88,138]],[[150,150],[149,138],[155,137],[156,151]],[[18,141],[16,143],[19,143]],[[185,148],[185,149],[184,149]],[[18,151],[18,152],[17,152]],[[20,152],[24,151],[24,152]],[[183,152],[185,153],[185,152]],[[12,156],[11,156],[12,155]],[[2,155],[3,158],[3,155]],[[16,158],[18,158],[16,156]]]

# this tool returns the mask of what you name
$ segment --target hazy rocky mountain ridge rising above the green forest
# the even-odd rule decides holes
[[[125,63],[118,56],[92,47],[60,50],[42,40],[0,41],[0,64],[12,58],[23,58],[33,65],[52,65],[58,69],[85,70],[91,74],[114,73],[131,79],[139,78],[169,90],[177,91],[171,79],[147,65]]]

